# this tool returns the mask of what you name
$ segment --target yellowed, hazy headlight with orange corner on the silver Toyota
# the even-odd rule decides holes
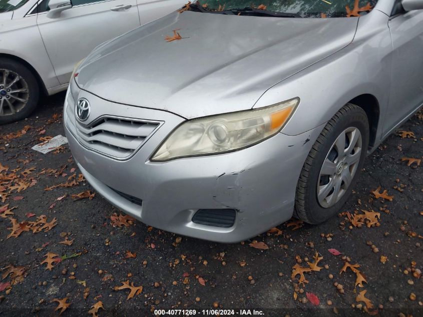
[[[272,106],[184,122],[162,143],[152,161],[236,151],[278,133],[299,98]]]

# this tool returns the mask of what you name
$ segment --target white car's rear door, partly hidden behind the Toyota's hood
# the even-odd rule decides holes
[[[182,8],[188,0],[137,0],[140,23],[145,25]]]

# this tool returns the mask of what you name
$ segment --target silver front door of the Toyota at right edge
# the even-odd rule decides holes
[[[423,103],[423,10],[404,12],[400,8],[388,22],[392,70],[384,134]]]

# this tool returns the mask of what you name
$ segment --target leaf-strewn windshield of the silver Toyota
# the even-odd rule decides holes
[[[196,4],[209,13],[271,16],[261,15],[258,9],[286,13],[292,17],[337,18],[359,17],[371,11],[376,3],[377,0],[200,0]],[[233,10],[245,8],[255,8],[255,10],[253,12]],[[275,16],[282,17],[282,15]]]

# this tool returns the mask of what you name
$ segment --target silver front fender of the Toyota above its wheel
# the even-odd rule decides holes
[[[391,69],[391,39],[387,16],[372,12],[360,19],[377,20],[377,27],[344,49],[268,89],[254,105],[260,108],[293,97],[300,104],[282,132],[298,135],[333,117],[346,103],[363,94],[373,95],[380,110],[379,120],[388,104]],[[359,21],[363,23],[365,21]],[[372,23],[374,24],[374,23]],[[365,24],[363,24],[365,25]],[[359,30],[357,30],[358,34]],[[380,127],[380,125],[378,125]],[[376,140],[380,139],[378,128]]]

